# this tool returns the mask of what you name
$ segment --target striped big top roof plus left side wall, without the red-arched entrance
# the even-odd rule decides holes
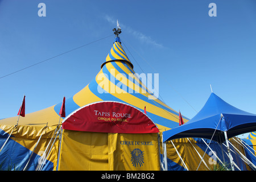
[[[179,125],[179,113],[156,98],[135,75],[118,36],[96,78],[65,101],[65,113],[69,115],[98,101],[122,102],[141,111],[146,106],[148,117],[160,132]],[[19,118],[18,125],[17,117],[0,120],[0,146],[4,146],[0,152],[1,169],[57,169],[59,137],[56,131],[59,121],[61,125],[64,119],[59,115],[61,104],[26,114]],[[184,122],[187,122],[185,117]],[[45,162],[41,160],[43,156],[47,157]]]

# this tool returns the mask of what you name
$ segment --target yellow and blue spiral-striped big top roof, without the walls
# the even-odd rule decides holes
[[[102,81],[103,80],[103,81]],[[116,37],[106,61],[96,78],[84,89],[68,98],[65,102],[66,115],[81,106],[97,101],[124,102],[146,111],[160,131],[179,126],[179,113],[164,104],[159,98],[150,99],[154,95],[139,79],[133,70],[133,64],[124,51],[119,37]],[[19,125],[54,126],[59,123],[59,111],[62,102],[34,113],[20,117]],[[63,118],[61,118],[62,120]],[[185,122],[187,119],[184,119]],[[15,125],[17,117],[2,119],[0,125]],[[1,127],[2,128],[2,127]]]

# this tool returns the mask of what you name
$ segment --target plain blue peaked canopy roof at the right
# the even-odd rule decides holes
[[[214,134],[215,131],[215,134]],[[184,137],[199,137],[222,143],[228,138],[256,131],[256,114],[247,113],[228,104],[216,94],[210,94],[204,107],[184,125],[163,132],[163,141]]]

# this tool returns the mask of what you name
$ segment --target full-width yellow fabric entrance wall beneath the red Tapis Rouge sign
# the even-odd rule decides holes
[[[138,154],[135,151],[141,151],[139,158],[132,158]],[[60,171],[159,169],[158,133],[117,134],[63,130]]]

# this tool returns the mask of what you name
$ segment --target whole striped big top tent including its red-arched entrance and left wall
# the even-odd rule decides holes
[[[160,169],[158,133],[178,126],[179,113],[156,98],[135,74],[118,34],[96,78],[64,101],[26,114],[19,117],[19,120],[18,116],[0,120],[2,169]],[[105,110],[92,110],[93,104],[102,101],[111,101],[106,102],[111,104],[104,106]],[[119,106],[113,106],[113,103]],[[63,106],[65,114],[60,115]],[[130,121],[131,113],[118,110],[122,107],[125,110],[129,107],[133,117],[144,117],[144,122],[138,119]],[[82,114],[88,112],[84,111],[85,108],[91,109],[90,113],[97,115],[97,118],[86,118]],[[112,122],[110,119],[114,117],[119,121]],[[101,126],[102,122],[109,126]],[[186,118],[184,122],[187,122]],[[116,130],[112,130],[113,127]],[[139,144],[142,148],[139,148]],[[133,148],[129,148],[131,146]],[[121,147],[128,148],[125,151]],[[79,151],[81,148],[86,151],[84,154]],[[122,151],[126,154],[121,154]],[[74,152],[77,155],[72,155]],[[149,153],[154,157],[148,155]],[[140,158],[137,157],[139,154]],[[122,157],[114,158],[115,155]],[[68,167],[71,165],[77,168]]]

